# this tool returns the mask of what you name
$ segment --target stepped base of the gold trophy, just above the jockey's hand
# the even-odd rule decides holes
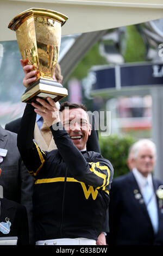
[[[60,83],[40,77],[32,86],[26,89],[21,100],[22,102],[31,103],[35,101],[36,97],[46,99],[49,96],[57,102],[67,95],[67,89],[62,87]]]

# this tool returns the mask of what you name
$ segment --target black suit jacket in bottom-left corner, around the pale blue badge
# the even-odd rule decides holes
[[[0,237],[17,236],[17,245],[29,244],[28,218],[26,207],[8,199],[1,199],[0,222],[9,218],[11,222],[9,234],[0,231]]]

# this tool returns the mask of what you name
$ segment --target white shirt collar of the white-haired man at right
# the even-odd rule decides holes
[[[140,191],[141,193],[143,193],[143,190],[144,190],[144,187],[148,181],[148,184],[149,186],[151,186],[153,188],[153,182],[152,182],[152,174],[149,173],[147,177],[143,176],[139,170],[137,170],[136,168],[134,168],[132,170],[134,176],[135,176],[135,179],[137,181],[137,184],[139,185],[140,187]]]

